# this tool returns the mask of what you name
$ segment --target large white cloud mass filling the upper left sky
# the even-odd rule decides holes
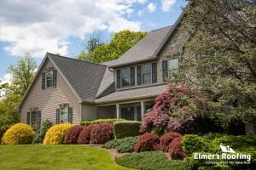
[[[84,37],[95,30],[140,30],[139,21],[127,20],[134,3],[145,0],[1,1],[0,41],[12,55],[29,52],[42,58],[46,52],[67,54],[68,37]]]

